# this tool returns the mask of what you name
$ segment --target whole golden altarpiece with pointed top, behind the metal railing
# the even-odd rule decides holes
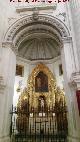
[[[48,125],[44,126],[43,124],[41,126],[44,129],[46,127],[46,132],[49,129],[49,125],[50,129],[53,129],[53,123],[57,125],[55,130],[60,130],[63,127],[62,125],[64,125],[64,129],[67,129],[64,91],[57,87],[54,75],[44,64],[38,64],[29,76],[28,87],[24,88],[19,97],[17,111],[16,125],[18,130],[21,130],[20,128],[22,128],[22,131],[33,129],[34,132],[34,119],[36,124],[38,124],[36,126],[38,128],[39,123],[45,122],[46,124],[47,122]],[[43,128],[40,129],[42,130]]]

